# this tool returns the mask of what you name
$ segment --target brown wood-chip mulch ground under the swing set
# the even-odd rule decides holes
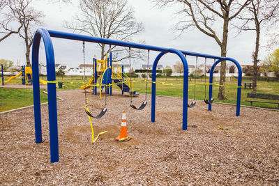
[[[182,130],[182,99],[151,96],[142,111],[107,96],[107,113],[84,113],[82,91],[58,91],[59,162],[50,163],[48,107],[41,106],[43,143],[35,143],[33,107],[0,115],[0,185],[279,185],[279,112],[197,101]],[[87,94],[98,114],[105,99]],[[105,97],[103,97],[105,98]],[[138,107],[144,95],[134,98]],[[190,101],[190,100],[189,100]],[[126,110],[130,141],[117,142]],[[228,127],[228,130],[218,130]]]

